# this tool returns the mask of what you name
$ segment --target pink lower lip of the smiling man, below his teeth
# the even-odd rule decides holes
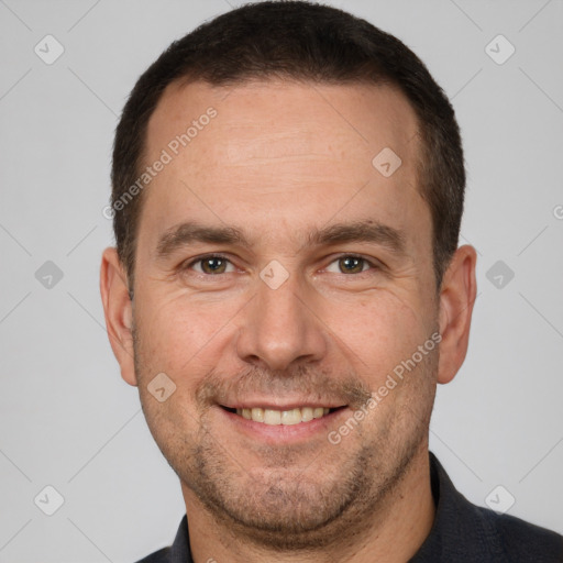
[[[322,416],[313,418],[308,422],[298,424],[265,424],[241,417],[234,412],[217,407],[227,417],[227,420],[235,428],[253,439],[261,439],[267,443],[284,443],[307,440],[318,435],[328,435],[331,429],[335,428],[335,419],[341,417],[347,408],[341,408]]]

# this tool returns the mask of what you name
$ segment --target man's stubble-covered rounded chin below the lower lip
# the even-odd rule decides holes
[[[367,452],[332,463],[313,460],[305,467],[251,471],[224,459],[219,463],[209,451],[191,459],[198,463],[179,475],[184,485],[220,526],[262,547],[291,551],[342,541],[342,533],[357,527],[360,512],[373,501]]]

